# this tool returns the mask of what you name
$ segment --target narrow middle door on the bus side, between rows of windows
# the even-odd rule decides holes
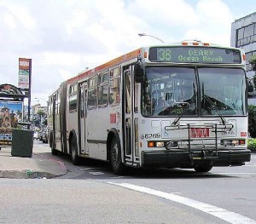
[[[88,155],[87,142],[87,82],[79,83],[79,154]]]

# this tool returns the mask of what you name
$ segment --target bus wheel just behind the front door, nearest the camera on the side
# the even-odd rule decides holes
[[[111,141],[110,163],[116,175],[122,175],[125,172],[125,165],[121,161],[120,149],[115,138]]]

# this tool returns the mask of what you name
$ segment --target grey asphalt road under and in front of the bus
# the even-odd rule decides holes
[[[245,166],[208,174],[131,169],[125,176],[113,175],[108,163],[54,158],[67,175],[0,180],[1,223],[256,223],[256,154]]]

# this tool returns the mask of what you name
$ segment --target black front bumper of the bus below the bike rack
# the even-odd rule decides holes
[[[216,152],[216,151],[215,151]],[[213,153],[214,154],[214,153]],[[217,150],[212,156],[202,155],[201,150],[188,151],[145,151],[142,152],[142,166],[193,168],[195,164],[212,164],[213,166],[243,165],[251,160],[251,151],[248,149]]]

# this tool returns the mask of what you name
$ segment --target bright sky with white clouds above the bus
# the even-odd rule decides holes
[[[0,84],[32,59],[32,105],[61,82],[142,46],[198,39],[230,45],[231,23],[255,0],[0,0]]]

